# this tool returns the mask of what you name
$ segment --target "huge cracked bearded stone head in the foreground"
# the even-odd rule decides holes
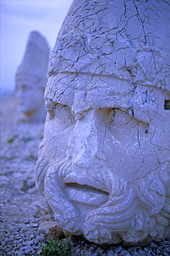
[[[169,15],[164,0],[74,0],[53,48],[37,189],[89,241],[170,235]]]

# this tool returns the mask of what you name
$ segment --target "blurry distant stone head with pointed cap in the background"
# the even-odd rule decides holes
[[[28,122],[46,119],[44,90],[47,82],[49,51],[46,39],[37,31],[32,31],[16,74],[19,110]]]

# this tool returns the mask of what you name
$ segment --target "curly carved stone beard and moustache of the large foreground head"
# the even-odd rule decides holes
[[[102,165],[96,166],[100,172],[95,174],[95,181],[101,182],[103,174],[108,177],[108,201],[88,212],[82,223],[77,205],[64,194],[62,181],[77,172],[75,165],[66,158],[57,166],[50,166],[47,159],[43,140],[36,166],[36,185],[43,198],[41,205],[53,214],[59,228],[84,235],[96,244],[117,244],[122,239],[130,243],[149,242],[169,235],[168,190],[166,196],[170,185],[169,165],[133,183],[126,183]]]

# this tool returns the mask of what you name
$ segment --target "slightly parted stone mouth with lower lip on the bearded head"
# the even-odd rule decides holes
[[[108,201],[108,192],[79,183],[65,183],[64,194],[71,201],[92,206],[103,205]]]

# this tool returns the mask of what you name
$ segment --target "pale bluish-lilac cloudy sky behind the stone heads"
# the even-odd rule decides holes
[[[28,35],[38,30],[50,49],[73,0],[1,0],[1,94],[15,89]]]

